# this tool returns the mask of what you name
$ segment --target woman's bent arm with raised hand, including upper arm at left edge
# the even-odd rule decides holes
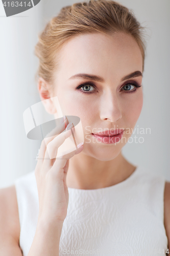
[[[83,150],[83,146],[79,147],[78,145],[75,151],[60,156],[59,159],[56,157],[51,159],[48,152],[52,156],[57,156],[58,147],[71,135],[71,130],[68,127],[62,133],[65,128],[65,123],[62,122],[61,126],[52,130],[41,143],[35,168],[39,214],[35,236],[28,256],[59,255],[60,236],[68,206],[68,188],[66,185],[68,163],[71,157]],[[74,131],[73,125],[70,127]],[[0,255],[21,256],[15,186],[12,186],[10,193],[8,191],[9,188],[5,188],[0,193]]]

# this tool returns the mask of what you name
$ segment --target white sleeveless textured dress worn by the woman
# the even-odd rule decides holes
[[[161,175],[137,166],[125,181],[99,189],[69,188],[59,255],[166,255]],[[20,248],[27,256],[38,219],[34,171],[15,181]]]

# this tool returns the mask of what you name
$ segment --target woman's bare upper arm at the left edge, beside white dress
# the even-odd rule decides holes
[[[0,189],[0,254],[22,255],[19,248],[19,214],[15,186]]]

